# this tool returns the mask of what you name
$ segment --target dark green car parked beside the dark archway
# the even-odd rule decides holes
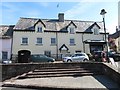
[[[46,55],[35,54],[31,55],[31,62],[54,62],[55,59],[47,57]]]

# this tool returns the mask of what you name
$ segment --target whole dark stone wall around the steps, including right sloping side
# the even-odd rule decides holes
[[[103,72],[106,76],[112,78],[116,83],[120,85],[120,73],[112,69],[111,67],[97,62],[81,62],[81,63],[15,63],[15,64],[1,64],[2,66],[2,80],[10,79],[12,77],[33,71],[35,69],[41,69],[45,67],[61,67],[61,68],[73,68],[79,66],[87,69],[97,69]]]

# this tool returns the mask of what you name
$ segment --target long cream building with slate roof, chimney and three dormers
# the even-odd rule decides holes
[[[13,55],[45,54],[48,56],[67,53],[103,50],[105,45],[103,23],[94,21],[20,18],[14,27]]]

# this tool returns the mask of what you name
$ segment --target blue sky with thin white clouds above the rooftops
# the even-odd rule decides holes
[[[64,13],[66,20],[102,21],[101,9],[106,10],[105,24],[112,34],[118,26],[119,0],[4,0],[0,2],[0,25],[15,25],[20,17],[57,19]]]

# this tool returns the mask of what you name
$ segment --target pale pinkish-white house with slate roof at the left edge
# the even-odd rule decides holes
[[[0,26],[0,62],[11,58],[13,27],[14,25]]]

